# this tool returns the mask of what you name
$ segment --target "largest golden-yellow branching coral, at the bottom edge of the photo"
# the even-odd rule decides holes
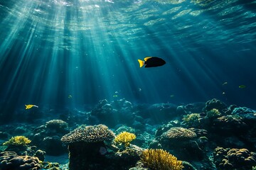
[[[181,170],[183,168],[181,161],[163,149],[145,149],[141,155],[141,162],[147,168],[154,170]]]

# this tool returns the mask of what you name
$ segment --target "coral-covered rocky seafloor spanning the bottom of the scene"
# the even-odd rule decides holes
[[[16,119],[0,126],[1,170],[256,169],[256,111],[215,98],[33,107]]]

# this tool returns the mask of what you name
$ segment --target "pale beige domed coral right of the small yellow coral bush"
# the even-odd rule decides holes
[[[191,139],[196,137],[196,133],[186,128],[171,128],[164,133],[164,136],[169,139]]]

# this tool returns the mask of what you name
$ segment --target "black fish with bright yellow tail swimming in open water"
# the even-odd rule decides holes
[[[144,61],[138,60],[138,62],[139,67],[159,67],[166,64],[166,62],[159,57],[146,57]]]

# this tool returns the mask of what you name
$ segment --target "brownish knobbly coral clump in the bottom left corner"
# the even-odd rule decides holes
[[[18,156],[16,152],[0,153],[1,170],[37,170],[41,169],[42,164],[37,157]]]

